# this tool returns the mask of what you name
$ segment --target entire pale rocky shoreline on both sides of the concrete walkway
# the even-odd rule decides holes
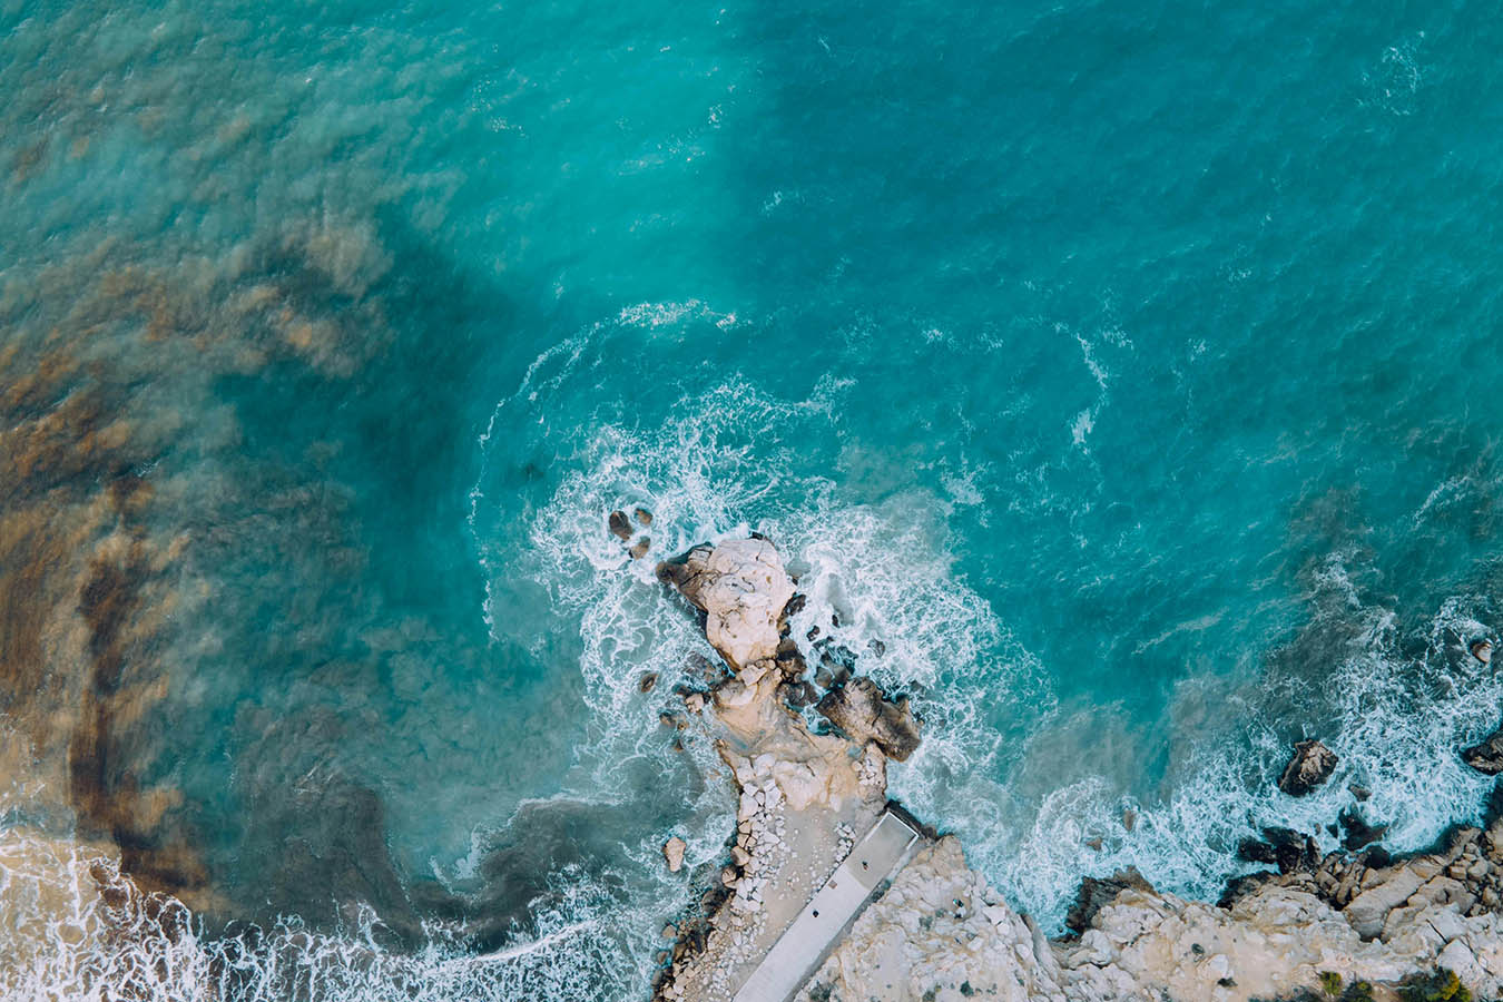
[[[917,748],[921,721],[849,664],[816,672],[822,694],[810,682],[788,635],[803,598],[771,541],[700,545],[658,565],[658,578],[703,616],[724,659],[703,673],[702,688],[681,687],[682,711],[664,720],[712,736],[739,810],[723,865],[691,874],[700,895],[664,928],[672,942],[660,954],[654,1002],[729,1000],[888,804],[887,759]],[[800,711],[809,705],[828,726],[806,724]],[[1467,751],[1483,771],[1494,759],[1503,766],[1503,738],[1489,742]],[[1300,742],[1281,787],[1308,793],[1335,765],[1318,741]],[[1232,880],[1217,903],[1157,892],[1136,873],[1087,877],[1067,919],[1072,934],[1057,939],[989,888],[956,838],[938,837],[878,889],[795,997],[1503,994],[1503,798],[1494,796],[1485,828],[1447,832],[1434,850],[1404,858],[1371,844],[1383,832],[1357,810],[1333,820],[1336,831],[1345,847],[1324,856],[1314,838],[1285,829],[1244,841],[1244,859],[1273,868]]]

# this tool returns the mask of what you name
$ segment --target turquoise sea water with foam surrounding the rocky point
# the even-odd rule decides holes
[[[654,557],[779,542],[795,635],[927,720],[897,795],[1046,925],[1127,864],[1214,897],[1348,783],[1393,849],[1473,817],[1500,44],[1465,3],[0,5],[0,337],[162,443],[194,598],[117,769],[180,790],[207,934],[301,916],[358,967],[319,997],[645,993],[657,846],[717,861],[733,802],[657,723],[706,647],[636,505]],[[1303,736],[1342,765],[1291,801]],[[340,952],[338,900],[410,951],[445,889],[476,940]]]

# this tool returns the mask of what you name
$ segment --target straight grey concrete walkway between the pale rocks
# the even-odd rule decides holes
[[[908,862],[921,835],[884,811],[845,862],[789,924],[762,963],[736,991],[735,1002],[788,1002],[819,969],[858,915],[875,900],[882,880]]]

